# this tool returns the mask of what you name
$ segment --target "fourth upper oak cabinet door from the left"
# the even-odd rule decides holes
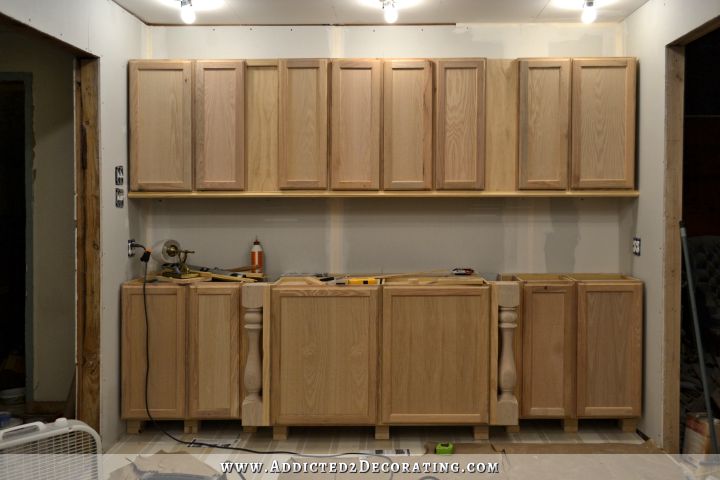
[[[381,96],[381,61],[333,61],[330,179],[334,190],[379,189]]]

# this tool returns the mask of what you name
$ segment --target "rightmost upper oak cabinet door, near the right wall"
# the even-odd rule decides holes
[[[636,116],[636,96],[637,96],[637,61],[634,58],[595,58],[595,59],[578,59],[574,58],[572,61],[573,72],[572,72],[572,188],[574,189],[630,189],[635,186],[635,116]],[[619,130],[624,135],[624,141],[619,146],[621,150],[622,158],[620,162],[622,164],[622,173],[619,177],[610,177],[610,173],[607,175],[600,174],[597,177],[589,177],[583,171],[583,164],[587,161],[595,164],[600,164],[601,158],[593,158],[585,160],[583,158],[583,151],[586,147],[586,142],[593,142],[593,139],[587,139],[590,137],[590,133],[596,134],[595,137],[598,139],[593,143],[590,143],[594,147],[594,153],[601,155],[602,152],[598,152],[599,149],[605,149],[608,147],[608,143],[614,138],[607,133],[607,128],[603,128],[600,131],[588,132],[583,126],[583,119],[586,114],[593,114],[598,118],[594,118],[594,123],[598,120],[608,121],[607,118],[603,119],[603,112],[591,111],[587,113],[586,106],[583,104],[583,70],[585,69],[622,69],[624,71],[624,80],[621,87],[621,91],[611,92],[595,92],[598,98],[595,99],[596,110],[602,106],[603,108],[610,108],[609,100],[613,96],[623,95],[624,103],[619,115],[622,117],[622,123]],[[600,98],[602,97],[602,98]],[[589,107],[588,107],[589,108]],[[604,112],[607,114],[607,112]],[[605,125],[603,125],[605,127]],[[588,127],[592,128],[592,127]],[[597,145],[601,143],[601,145]]]

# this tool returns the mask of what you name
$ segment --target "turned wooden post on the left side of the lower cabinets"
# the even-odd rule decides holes
[[[243,384],[245,398],[242,403],[243,426],[258,426],[263,424],[263,398],[261,389],[262,355],[260,342],[263,329],[263,300],[266,284],[251,283],[243,285],[242,305],[245,308],[244,329],[247,335],[247,358]]]

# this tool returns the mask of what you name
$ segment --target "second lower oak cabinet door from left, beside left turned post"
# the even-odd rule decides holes
[[[189,291],[188,416],[240,418],[240,285]]]

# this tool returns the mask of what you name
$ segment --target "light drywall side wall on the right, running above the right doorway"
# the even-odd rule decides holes
[[[632,260],[635,276],[645,287],[645,416],[641,428],[662,444],[663,396],[663,256],[665,158],[665,46],[720,15],[718,0],[650,0],[629,16],[626,52],[638,57],[638,179],[635,233],[643,240],[643,255]]]

